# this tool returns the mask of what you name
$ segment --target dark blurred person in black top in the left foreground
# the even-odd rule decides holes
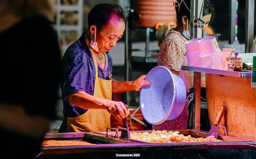
[[[47,0],[0,1],[0,158],[35,158],[55,118],[60,80]]]

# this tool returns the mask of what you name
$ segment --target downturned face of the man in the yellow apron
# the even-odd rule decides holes
[[[116,42],[122,38],[124,29],[124,21],[118,19],[115,15],[110,18],[109,23],[101,27],[99,32],[96,28],[96,42],[98,44],[99,52],[111,50],[116,45]]]

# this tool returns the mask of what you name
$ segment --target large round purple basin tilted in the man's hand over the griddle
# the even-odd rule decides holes
[[[152,125],[177,118],[186,101],[186,87],[182,78],[167,67],[152,68],[145,80],[150,86],[143,86],[140,92],[140,108],[144,119]]]

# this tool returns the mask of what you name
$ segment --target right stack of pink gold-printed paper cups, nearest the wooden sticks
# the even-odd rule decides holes
[[[215,53],[220,51],[216,38],[214,36],[203,38],[197,41],[197,45],[199,48],[199,59],[201,67],[215,68]]]

